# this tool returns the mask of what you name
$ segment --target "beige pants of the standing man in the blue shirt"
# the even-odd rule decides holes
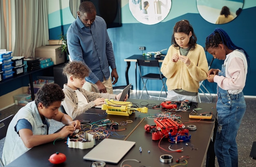
[[[102,83],[107,88],[107,92],[110,94],[113,94],[111,77],[109,77],[108,80],[104,77]],[[90,82],[85,82],[83,84],[83,89],[90,91],[90,92],[98,92],[99,93],[99,90],[98,90],[98,87],[96,86],[96,84],[93,84]]]

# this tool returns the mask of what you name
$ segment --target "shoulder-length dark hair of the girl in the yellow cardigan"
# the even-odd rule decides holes
[[[195,36],[193,27],[191,26],[191,24],[189,24],[189,20],[181,20],[181,21],[179,21],[175,24],[175,26],[173,27],[173,35],[172,35],[171,44],[175,48],[179,49],[180,46],[175,41],[174,33],[185,33],[186,35],[189,35],[190,31],[192,33],[192,36],[189,39],[189,48],[190,48],[191,51],[193,51],[195,49],[195,46],[196,46],[197,38]]]

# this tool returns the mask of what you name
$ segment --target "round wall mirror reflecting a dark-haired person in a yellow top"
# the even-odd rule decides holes
[[[207,22],[225,24],[242,11],[244,0],[196,0],[198,12]]]

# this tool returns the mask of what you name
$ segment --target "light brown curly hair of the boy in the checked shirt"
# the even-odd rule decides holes
[[[65,64],[63,75],[73,75],[75,78],[85,78],[89,76],[90,69],[84,62],[73,61]]]

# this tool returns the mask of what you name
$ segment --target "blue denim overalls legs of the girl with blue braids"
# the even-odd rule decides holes
[[[245,98],[243,92],[228,94],[227,91],[219,89],[214,150],[220,167],[238,167],[236,134],[245,114]]]

